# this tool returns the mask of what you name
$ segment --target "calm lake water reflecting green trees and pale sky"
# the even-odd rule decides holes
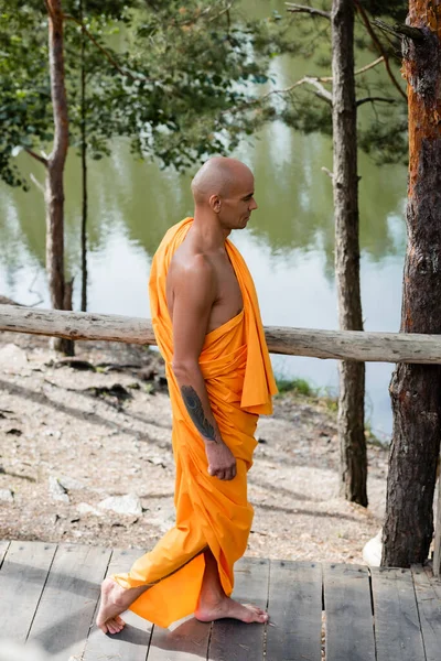
[[[261,4],[261,3],[260,3]],[[270,3],[282,7],[283,3]],[[303,67],[303,68],[302,68]],[[278,84],[308,71],[276,61]],[[247,229],[232,235],[255,278],[266,325],[337,328],[334,280],[331,140],[303,136],[281,122],[267,126],[234,154],[256,176],[259,205]],[[28,176],[43,181],[39,163],[18,156]],[[406,251],[404,166],[375,165],[359,154],[362,301],[366,330],[398,332]],[[165,230],[192,215],[190,181],[153,162],[135,161],[115,142],[111,156],[89,163],[89,283],[93,312],[149,316],[147,281],[151,257]],[[72,152],[66,169],[66,267],[75,275],[79,308],[80,170]],[[50,305],[44,272],[44,204],[40,189],[28,193],[0,183],[0,294],[41,307]],[[302,377],[335,393],[336,362],[272,357],[276,373]],[[368,364],[366,418],[374,433],[391,432],[388,383],[392,366]]]

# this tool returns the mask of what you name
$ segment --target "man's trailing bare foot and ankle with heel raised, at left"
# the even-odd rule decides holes
[[[119,617],[120,614],[127,610],[149,587],[149,585],[140,585],[126,589],[110,577],[103,581],[101,602],[96,619],[97,627],[104,633],[119,633],[125,626],[125,621]]]

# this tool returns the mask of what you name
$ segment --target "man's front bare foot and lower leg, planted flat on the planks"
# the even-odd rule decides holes
[[[220,585],[216,560],[211,551],[205,551],[205,574],[194,616],[203,622],[224,617],[232,617],[243,622],[268,621],[268,614],[261,608],[250,604],[239,604],[226,596]]]

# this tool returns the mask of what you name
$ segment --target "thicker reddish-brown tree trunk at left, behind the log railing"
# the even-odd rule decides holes
[[[64,187],[63,175],[68,147],[67,99],[64,82],[63,14],[61,0],[47,0],[49,62],[54,113],[54,145],[47,159],[46,270],[52,306],[64,310]],[[65,350],[65,340],[55,339],[53,347]]]

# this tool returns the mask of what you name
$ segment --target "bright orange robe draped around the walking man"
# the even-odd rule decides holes
[[[229,596],[234,563],[244,555],[252,521],[247,499],[247,472],[256,447],[254,433],[260,413],[272,412],[277,392],[251,275],[238,250],[226,250],[244,300],[243,311],[205,336],[200,367],[222,437],[237,462],[230,481],[207,473],[205,444],[182,400],[171,364],[172,322],[166,306],[166,272],[192,225],[185,218],[164,236],[152,262],[149,293],[153,329],[165,360],[173,412],[172,444],[176,465],[176,523],[128,574],[114,578],[122,587],[151,585],[130,607],[141,617],[168,627],[195,611],[204,575],[203,551],[211,549]]]

